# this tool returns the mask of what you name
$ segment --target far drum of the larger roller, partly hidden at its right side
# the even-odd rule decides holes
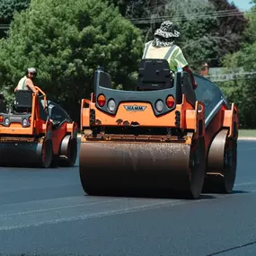
[[[234,188],[236,163],[237,141],[228,137],[228,129],[223,129],[209,148],[203,190],[207,193],[231,193]]]

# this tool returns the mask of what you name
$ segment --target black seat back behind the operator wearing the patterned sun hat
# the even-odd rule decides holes
[[[173,87],[172,72],[166,59],[142,59],[137,76],[137,91]]]

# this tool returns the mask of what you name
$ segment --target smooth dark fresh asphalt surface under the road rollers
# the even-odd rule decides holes
[[[0,255],[256,255],[256,141],[239,141],[234,193],[90,197],[74,168],[0,169]]]

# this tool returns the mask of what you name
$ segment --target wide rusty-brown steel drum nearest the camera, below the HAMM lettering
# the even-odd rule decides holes
[[[178,191],[200,196],[205,178],[204,140],[178,143],[81,143],[80,179],[89,195]]]

